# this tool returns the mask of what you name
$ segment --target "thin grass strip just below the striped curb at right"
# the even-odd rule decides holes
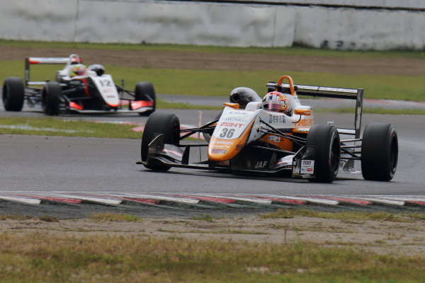
[[[412,222],[425,219],[423,213],[402,213],[394,214],[390,212],[319,212],[310,209],[278,209],[275,212],[260,215],[261,218],[293,218],[294,216],[318,217],[324,219],[339,219],[343,221],[395,221],[395,222]]]

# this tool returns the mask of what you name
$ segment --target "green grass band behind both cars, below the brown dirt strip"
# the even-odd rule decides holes
[[[8,76],[23,77],[23,61],[0,61],[0,81]],[[37,70],[35,71],[35,68]],[[32,69],[31,80],[53,80],[57,66],[36,66]],[[125,79],[125,87],[132,89],[138,81],[151,81],[157,93],[186,94],[194,96],[228,97],[233,88],[247,86],[260,95],[266,93],[266,83],[277,80],[279,71],[225,71],[154,69],[149,67],[130,68],[106,66],[116,83]],[[289,74],[295,83],[364,88],[365,98],[395,100],[425,100],[424,76],[390,75],[344,75],[292,71]],[[220,105],[217,105],[220,106]]]

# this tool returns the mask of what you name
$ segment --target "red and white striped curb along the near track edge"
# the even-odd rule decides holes
[[[21,204],[120,204],[146,205],[186,205],[188,207],[206,205],[208,207],[235,207],[243,204],[252,206],[322,205],[337,207],[342,205],[394,207],[419,207],[425,209],[425,195],[268,195],[268,194],[193,194],[193,193],[149,193],[149,192],[9,192],[0,191],[1,202]]]

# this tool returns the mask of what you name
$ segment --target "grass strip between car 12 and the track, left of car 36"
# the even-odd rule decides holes
[[[140,139],[142,133],[132,131],[134,127],[137,125],[61,120],[53,117],[0,117],[0,134]]]

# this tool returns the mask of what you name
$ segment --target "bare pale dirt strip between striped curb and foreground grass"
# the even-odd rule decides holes
[[[111,235],[155,238],[215,239],[258,243],[319,243],[327,246],[351,246],[391,255],[425,253],[425,221],[341,221],[295,216],[292,219],[262,219],[259,216],[224,217],[213,221],[163,218],[139,222],[63,219],[1,220],[3,232],[29,233],[49,231],[72,236]]]

